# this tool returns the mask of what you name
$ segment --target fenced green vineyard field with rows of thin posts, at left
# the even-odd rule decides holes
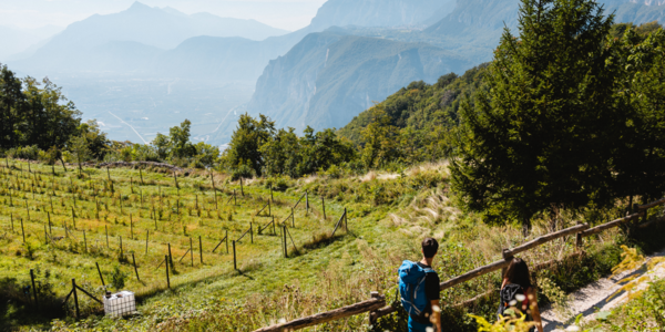
[[[233,274],[233,241],[243,234],[236,243],[239,271],[269,264],[274,273],[285,274],[273,274],[278,277],[275,280],[288,278],[288,269],[279,267],[304,259],[298,258],[307,251],[303,243],[310,242],[311,235],[330,232],[337,221],[334,217],[344,214],[344,207],[328,203],[328,218],[324,219],[319,211],[321,200],[310,201],[308,211],[304,198],[295,216],[287,218],[301,197],[299,193],[257,186],[242,189],[239,184],[229,185],[217,175],[215,190],[211,175],[203,172],[187,176],[176,173],[174,178],[166,170],[84,168],[79,176],[72,169],[65,173],[38,164],[30,165],[30,170],[25,163],[11,162],[9,166],[0,175],[0,278],[29,276],[30,269],[49,270],[59,295],[71,290],[71,279],[100,293],[102,281],[95,263],[103,274],[120,264],[131,273],[125,289],[139,297],[164,290],[167,287],[163,261],[168,245],[174,262],[172,288]],[[266,207],[269,200],[272,204]],[[273,220],[275,224],[266,227]],[[252,232],[246,232],[250,225]],[[283,225],[288,229],[290,260],[284,259]],[[344,228],[337,234],[342,236]],[[222,241],[226,235],[228,241]],[[134,258],[141,280],[136,280],[133,270]],[[109,283],[109,278],[104,278]],[[244,293],[249,290],[247,287],[252,286],[239,289]],[[264,289],[274,287],[262,284]]]

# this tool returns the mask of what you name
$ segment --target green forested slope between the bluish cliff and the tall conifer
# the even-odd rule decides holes
[[[482,87],[485,68],[487,64],[479,65],[461,76],[447,74],[431,85],[412,82],[355,116],[338,134],[356,146],[365,146],[367,126],[377,117],[387,116],[383,125],[390,126],[386,135],[396,144],[395,160],[412,163],[444,157],[456,144],[449,132],[458,125],[460,104]]]

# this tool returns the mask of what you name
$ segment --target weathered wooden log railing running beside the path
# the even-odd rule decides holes
[[[502,252],[503,259],[492,262],[490,264],[477,268],[472,271],[469,271],[464,274],[458,276],[450,280],[443,281],[439,284],[439,287],[441,290],[449,289],[449,288],[460,284],[462,282],[475,279],[480,276],[484,276],[484,274],[498,271],[500,269],[507,268],[510,264],[510,260],[515,255],[531,250],[533,248],[536,248],[539,246],[542,246],[546,242],[550,242],[552,240],[555,240],[555,239],[559,239],[562,237],[575,235],[576,246],[581,247],[582,242],[583,242],[583,238],[590,237],[592,235],[598,234],[603,230],[606,230],[606,229],[610,229],[613,227],[618,227],[627,221],[631,221],[634,219],[640,219],[640,217],[642,217],[642,216],[646,217],[649,208],[656,207],[662,204],[665,204],[665,198],[646,204],[646,205],[642,205],[642,206],[636,205],[635,207],[637,209],[637,212],[626,216],[624,218],[608,221],[606,224],[603,224],[603,225],[600,225],[600,226],[596,226],[593,228],[590,228],[587,224],[576,225],[576,226],[566,228],[566,229],[563,229],[563,230],[560,230],[556,232],[552,232],[552,234],[548,234],[548,235],[538,237],[538,238],[535,238],[529,242],[525,242],[521,246],[518,246],[515,248],[504,249]],[[644,218],[644,219],[646,220],[646,218]],[[665,218],[658,218],[656,220],[665,220]],[[577,255],[577,253],[573,253],[573,255]],[[550,262],[548,262],[545,264],[549,264],[549,263]],[[479,298],[484,297],[484,295],[488,295],[488,293],[480,294],[477,298],[464,301],[462,303],[458,303],[456,305],[468,305],[469,304],[468,302],[475,301]],[[392,305],[386,305],[386,297],[385,295],[381,295],[378,292],[372,292],[370,300],[355,303],[351,305],[347,305],[344,308],[339,308],[336,310],[317,313],[317,314],[297,319],[297,320],[294,320],[290,322],[285,322],[285,323],[258,329],[255,332],[295,331],[295,330],[305,329],[307,326],[314,326],[314,325],[323,324],[323,323],[326,323],[329,321],[340,320],[340,319],[345,319],[345,318],[348,318],[351,315],[361,314],[361,313],[366,313],[366,312],[369,312],[369,321],[371,324],[374,324],[379,318],[391,314],[395,311],[397,311],[397,308],[395,308]]]

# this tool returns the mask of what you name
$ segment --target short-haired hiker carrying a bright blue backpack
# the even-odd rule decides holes
[[[409,313],[409,332],[441,331],[439,274],[432,269],[438,250],[439,242],[427,238],[422,240],[422,260],[405,260],[399,268],[399,291]]]

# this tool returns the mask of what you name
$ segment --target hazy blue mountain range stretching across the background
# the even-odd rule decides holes
[[[621,22],[663,20],[665,13],[661,0],[598,2]],[[329,0],[308,27],[287,32],[252,20],[188,15],[136,2],[122,12],[73,23],[25,59],[9,63],[23,73],[162,80],[155,84],[167,86],[170,97],[183,82],[190,82],[188,91],[207,91],[209,82],[255,85],[254,91],[241,94],[236,87],[228,90],[234,91],[233,98],[222,97],[236,104],[223,113],[212,104],[214,98],[206,104],[208,98],[198,94],[195,101],[182,96],[178,104],[197,105],[188,117],[206,108],[217,112],[206,113],[198,127],[196,118],[191,120],[197,135],[221,144],[227,142],[239,112],[266,114],[277,126],[298,131],[307,125],[341,127],[411,81],[433,83],[442,74],[462,73],[487,62],[504,28],[516,28],[519,4],[519,0]],[[95,91],[108,94],[122,90],[122,84],[116,79],[98,80]],[[163,92],[155,94],[154,89],[146,87],[143,97],[163,98]],[[245,102],[237,104],[245,94]],[[95,116],[103,117],[108,95],[96,97],[96,103],[93,93],[83,96],[86,105],[99,111]],[[131,116],[117,116],[126,124],[144,118],[139,114],[147,112],[112,102],[115,110],[132,108]],[[158,113],[160,103],[151,104],[156,107],[151,114]],[[218,122],[213,123],[214,131],[211,118]],[[166,129],[163,124],[133,125],[135,132],[142,127],[150,132],[146,136]]]

